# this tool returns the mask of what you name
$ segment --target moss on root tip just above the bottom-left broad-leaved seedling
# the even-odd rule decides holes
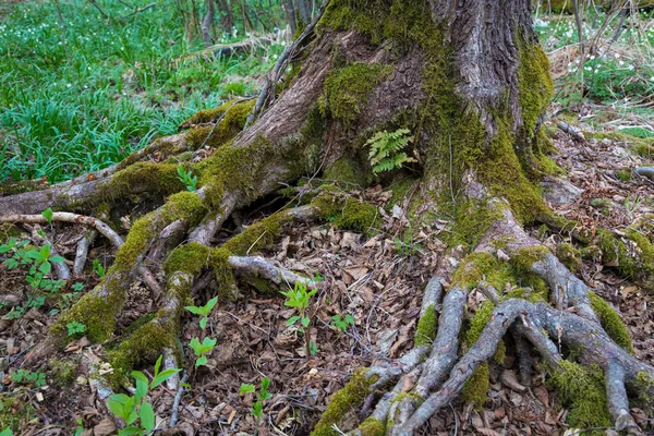
[[[158,322],[150,322],[134,331],[116,350],[108,351],[108,360],[113,373],[109,377],[112,387],[120,386],[128,374],[140,364],[154,362],[165,348],[174,348],[172,329]]]

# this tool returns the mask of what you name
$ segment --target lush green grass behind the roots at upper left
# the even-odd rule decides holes
[[[112,17],[133,12],[114,0],[97,2]],[[195,111],[255,93],[249,76],[264,74],[283,50],[193,56],[204,47],[185,40],[173,2],[124,24],[86,0],[60,3],[65,27],[53,1],[19,3],[0,17],[0,181],[57,182],[118,162],[175,133]]]

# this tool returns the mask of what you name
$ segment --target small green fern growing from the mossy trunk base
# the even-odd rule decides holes
[[[399,129],[395,132],[377,132],[365,144],[370,145],[371,153],[368,159],[373,166],[373,172],[391,171],[396,168],[402,168],[405,162],[414,162],[415,159],[401,152],[409,142],[411,131],[409,129]]]

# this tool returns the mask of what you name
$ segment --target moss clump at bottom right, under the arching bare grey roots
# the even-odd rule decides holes
[[[610,427],[604,374],[595,365],[562,361],[561,371],[552,374],[561,402],[570,410],[568,424],[574,428]],[[593,434],[603,435],[597,431]]]

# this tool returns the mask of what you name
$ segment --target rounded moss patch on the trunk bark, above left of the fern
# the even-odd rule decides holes
[[[320,112],[349,125],[359,118],[368,96],[389,72],[389,66],[364,62],[330,71],[318,101]]]

